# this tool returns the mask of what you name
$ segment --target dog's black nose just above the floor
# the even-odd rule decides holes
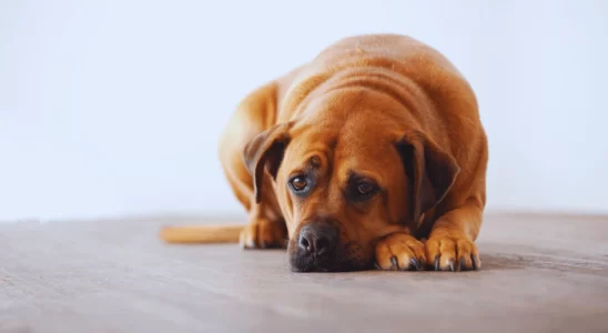
[[[302,251],[317,256],[334,251],[337,243],[337,228],[326,222],[312,222],[300,231],[298,244]]]

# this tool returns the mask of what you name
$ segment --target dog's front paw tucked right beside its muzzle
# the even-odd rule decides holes
[[[387,271],[420,271],[426,261],[424,245],[414,236],[393,233],[376,244],[376,266]]]

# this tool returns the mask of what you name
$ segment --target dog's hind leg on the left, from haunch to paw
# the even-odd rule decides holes
[[[253,178],[243,162],[247,142],[267,130],[276,120],[276,83],[268,83],[247,95],[233,113],[220,139],[220,160],[224,174],[249,213],[241,233],[245,249],[284,248],[286,225],[281,214],[272,181],[264,175],[261,202],[255,202]]]

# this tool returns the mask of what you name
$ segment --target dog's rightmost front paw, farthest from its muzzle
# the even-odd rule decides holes
[[[465,235],[432,236],[425,246],[427,264],[435,271],[475,271],[482,266],[477,246]]]

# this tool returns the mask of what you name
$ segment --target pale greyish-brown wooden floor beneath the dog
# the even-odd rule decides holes
[[[608,332],[608,219],[488,214],[479,272],[291,273],[188,219],[0,224],[0,332]]]

